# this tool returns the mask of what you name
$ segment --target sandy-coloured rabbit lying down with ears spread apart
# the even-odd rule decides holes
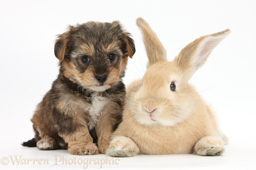
[[[136,24],[149,59],[147,70],[126,88],[123,121],[113,132],[106,154],[221,155],[228,139],[219,131],[210,106],[188,81],[231,31],[201,36],[170,62],[149,24],[143,18]]]

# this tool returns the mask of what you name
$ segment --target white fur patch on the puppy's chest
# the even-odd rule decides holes
[[[106,97],[102,97],[100,92],[92,93],[92,106],[89,108],[90,122],[89,129],[93,129],[98,121],[98,117],[103,113],[104,106],[109,102]]]

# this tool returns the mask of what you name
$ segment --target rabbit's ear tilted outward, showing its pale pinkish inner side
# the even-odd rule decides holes
[[[229,29],[226,29],[222,32],[201,36],[181,50],[179,55],[174,59],[174,62],[184,72],[187,80],[193,76],[198,68],[204,65],[212,50],[230,32]]]

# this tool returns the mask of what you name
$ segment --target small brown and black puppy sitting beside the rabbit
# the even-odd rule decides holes
[[[54,53],[60,73],[31,119],[35,138],[22,145],[74,155],[105,153],[123,111],[122,77],[135,53],[130,33],[118,21],[69,26]]]

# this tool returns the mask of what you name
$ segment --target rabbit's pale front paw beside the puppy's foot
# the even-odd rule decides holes
[[[124,136],[114,137],[106,151],[107,155],[115,157],[132,157],[138,153],[138,146],[130,138]]]

